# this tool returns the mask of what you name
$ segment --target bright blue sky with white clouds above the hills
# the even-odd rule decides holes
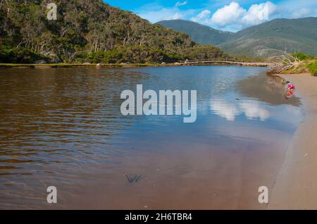
[[[317,0],[104,0],[156,23],[185,19],[210,27],[238,31],[274,18],[317,16]]]

